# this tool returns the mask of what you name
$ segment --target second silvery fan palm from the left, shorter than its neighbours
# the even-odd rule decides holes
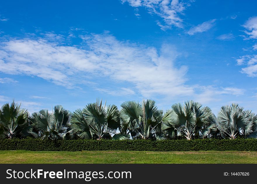
[[[41,139],[69,139],[73,136],[69,129],[70,119],[71,112],[60,105],[55,106],[51,113],[47,109],[34,112],[29,118],[34,129],[31,129],[29,133]]]

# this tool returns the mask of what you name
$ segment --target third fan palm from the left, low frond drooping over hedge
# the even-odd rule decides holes
[[[78,109],[72,115],[71,128],[82,139],[129,139],[128,135],[116,133],[119,126],[119,109],[115,105],[106,107],[106,102],[102,106],[102,100],[89,103],[83,110]]]

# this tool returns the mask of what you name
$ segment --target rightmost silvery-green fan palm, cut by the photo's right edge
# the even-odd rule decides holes
[[[245,111],[236,103],[220,108],[218,124],[223,132],[223,138],[235,139],[239,135],[257,138],[257,116],[251,111]]]

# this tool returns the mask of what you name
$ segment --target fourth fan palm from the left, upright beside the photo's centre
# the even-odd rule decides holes
[[[143,100],[142,103],[136,101],[126,101],[121,104],[121,121],[131,137],[141,137],[149,139],[156,137],[162,139],[161,121],[162,111],[157,109],[155,101]]]

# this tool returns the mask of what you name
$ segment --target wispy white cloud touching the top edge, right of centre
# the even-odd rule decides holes
[[[178,0],[121,0],[121,2],[128,2],[132,7],[145,7],[150,14],[158,15],[164,23],[157,21],[157,25],[165,30],[171,26],[183,27],[183,20],[179,16],[183,15],[183,11],[192,1],[185,3]]]

